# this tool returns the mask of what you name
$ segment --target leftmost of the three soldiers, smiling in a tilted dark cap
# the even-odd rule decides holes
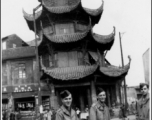
[[[76,111],[71,108],[72,95],[68,90],[60,93],[62,106],[57,110],[55,120],[79,120]]]

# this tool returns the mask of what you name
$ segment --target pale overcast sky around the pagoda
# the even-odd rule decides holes
[[[98,8],[101,3],[101,0],[82,0],[83,6],[88,8]],[[38,4],[38,0],[1,0],[1,38],[17,34],[24,41],[33,40],[34,33],[29,30],[22,9],[32,13]],[[106,35],[112,32],[113,26],[116,27],[115,42],[106,58],[112,65],[121,66],[119,32],[124,33],[125,65],[129,61],[127,56],[132,58],[126,83],[139,85],[145,81],[142,55],[151,49],[151,0],[104,0],[104,12],[93,31]]]

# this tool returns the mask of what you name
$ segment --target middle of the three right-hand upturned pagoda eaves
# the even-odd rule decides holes
[[[91,32],[93,39],[100,44],[112,43],[115,38],[115,27],[111,34],[109,35],[99,35]]]

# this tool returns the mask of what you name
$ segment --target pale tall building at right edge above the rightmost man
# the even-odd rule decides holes
[[[145,82],[149,84],[149,49],[143,54]]]

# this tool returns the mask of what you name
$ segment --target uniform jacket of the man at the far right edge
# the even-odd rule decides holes
[[[137,103],[137,118],[139,120],[149,120],[149,94],[144,99],[143,96]]]

